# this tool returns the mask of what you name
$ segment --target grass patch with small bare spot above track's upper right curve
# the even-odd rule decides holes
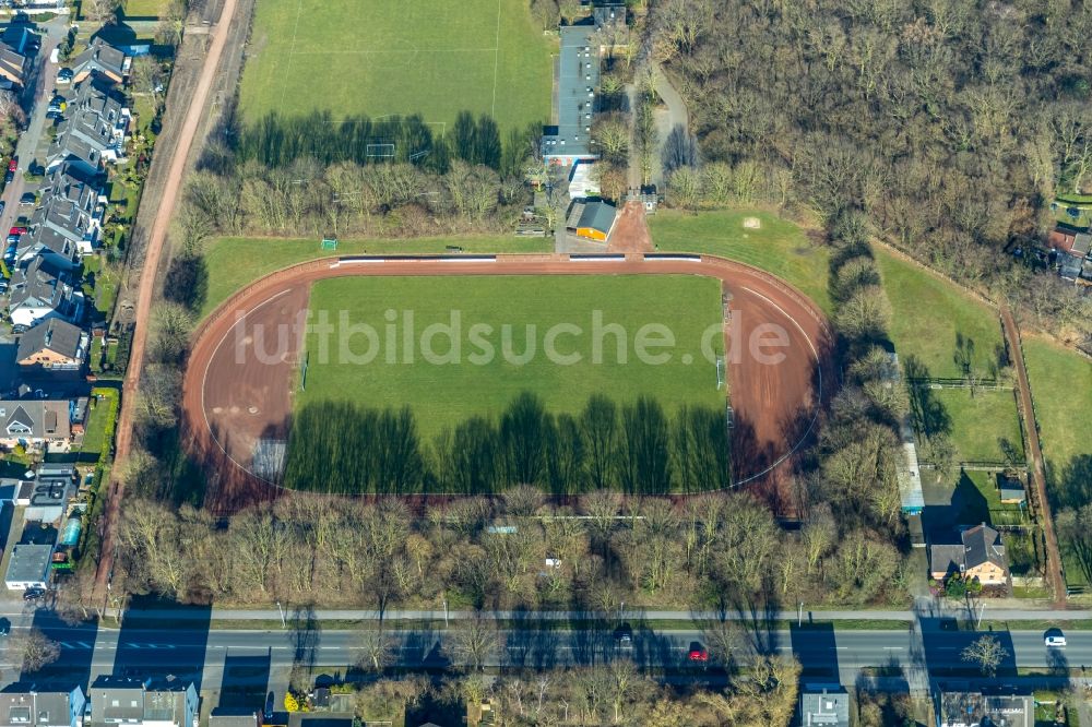
[[[747,217],[758,217],[761,227],[745,228]],[[707,253],[755,265],[792,283],[831,311],[827,249],[812,246],[803,229],[775,214],[662,210],[649,217],[649,229],[662,251]]]

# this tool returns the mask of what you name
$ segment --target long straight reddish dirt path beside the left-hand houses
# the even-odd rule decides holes
[[[174,216],[178,193],[181,190],[190,146],[193,143],[198,126],[201,122],[205,102],[209,97],[209,90],[216,78],[216,68],[219,64],[225,41],[229,35],[235,7],[236,0],[225,0],[219,21],[212,33],[212,43],[209,46],[209,53],[205,56],[201,76],[198,80],[192,99],[187,107],[186,121],[181,127],[177,144],[171,150],[167,182],[163,189],[163,198],[156,211],[155,224],[152,226],[152,233],[149,237],[144,254],[142,275],[135,300],[136,318],[134,321],[132,353],[130,354],[129,369],[126,372],[126,381],[122,389],[121,413],[118,418],[117,439],[115,441],[114,469],[111,470],[111,481],[109,491],[107,492],[102,557],[96,574],[96,582],[99,588],[106,585],[107,579],[110,577],[114,569],[114,544],[123,491],[123,485],[119,475],[124,469],[126,461],[132,446],[133,410],[135,407],[136,388],[140,383],[141,370],[144,364],[144,345],[147,341],[147,320],[152,307],[152,296],[155,291],[156,271],[159,267],[159,258],[163,254],[167,229]]]

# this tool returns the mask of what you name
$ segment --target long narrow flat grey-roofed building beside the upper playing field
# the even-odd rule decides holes
[[[543,159],[570,167],[598,157],[592,144],[592,114],[600,86],[600,41],[595,25],[565,25],[556,84],[557,124],[543,130]]]

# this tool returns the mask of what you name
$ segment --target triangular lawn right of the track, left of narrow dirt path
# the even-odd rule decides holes
[[[891,301],[891,339],[899,358],[905,364],[913,355],[929,376],[960,378],[956,354],[962,336],[973,343],[972,358],[980,374],[993,376],[998,350],[1004,350],[997,313],[953,283],[879,246],[874,250]]]

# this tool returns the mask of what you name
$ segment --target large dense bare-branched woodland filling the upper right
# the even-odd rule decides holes
[[[1092,349],[1092,302],[1014,264],[1057,193],[1092,186],[1092,5],[1080,0],[663,0],[654,57],[704,164],[684,206],[798,205],[877,235]]]

